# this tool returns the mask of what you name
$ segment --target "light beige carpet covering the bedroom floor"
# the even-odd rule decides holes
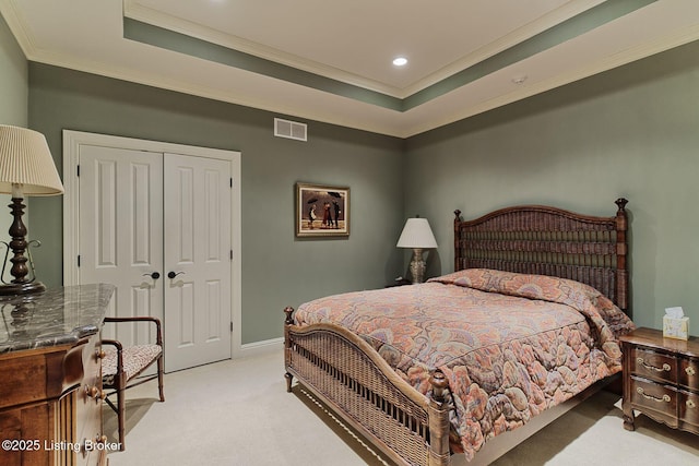
[[[110,466],[383,465],[296,385],[286,393],[282,350],[165,375],[127,391],[126,451]],[[619,397],[600,392],[494,465],[697,465],[699,437],[640,416],[623,428]],[[117,441],[105,406],[105,433]],[[463,458],[463,456],[462,456]],[[465,462],[460,462],[465,464]]]

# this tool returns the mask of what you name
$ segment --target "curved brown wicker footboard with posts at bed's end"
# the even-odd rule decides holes
[[[284,310],[286,387],[296,377],[352,428],[398,464],[449,464],[450,393],[436,371],[428,399],[364,339],[336,325],[294,325]]]

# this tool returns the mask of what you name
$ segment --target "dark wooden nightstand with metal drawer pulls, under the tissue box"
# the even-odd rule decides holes
[[[674,429],[699,434],[699,338],[663,338],[637,328],[619,338],[624,351],[624,428],[633,410]]]

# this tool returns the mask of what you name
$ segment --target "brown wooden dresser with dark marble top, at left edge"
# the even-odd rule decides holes
[[[0,465],[104,465],[100,328],[114,286],[0,297]]]

